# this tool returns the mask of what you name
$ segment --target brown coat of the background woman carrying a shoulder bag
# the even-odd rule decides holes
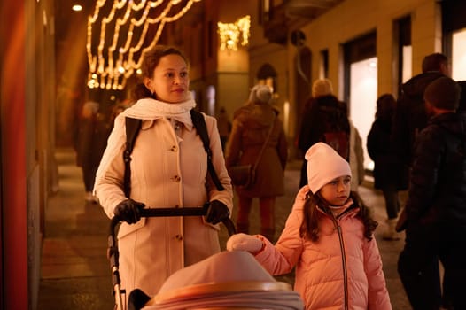
[[[283,122],[272,105],[250,103],[235,112],[233,128],[225,151],[227,167],[254,165],[260,149],[273,126],[267,146],[256,170],[256,182],[250,189],[237,188],[238,195],[266,198],[284,194],[284,168],[288,158],[288,143]]]

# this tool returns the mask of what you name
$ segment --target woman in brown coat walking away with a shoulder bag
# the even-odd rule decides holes
[[[273,240],[274,206],[276,197],[284,194],[283,178],[288,145],[283,123],[277,117],[278,112],[269,105],[271,99],[272,89],[267,85],[252,88],[248,103],[235,112],[225,157],[228,168],[254,165],[260,157],[252,186],[236,187],[239,200],[237,230],[248,232],[252,199],[259,198],[260,232]],[[263,146],[264,151],[260,154]]]

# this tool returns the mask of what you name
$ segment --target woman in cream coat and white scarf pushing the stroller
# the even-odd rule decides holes
[[[116,118],[97,171],[94,192],[108,217],[123,221],[118,234],[121,289],[155,295],[176,270],[220,252],[219,227],[229,217],[232,188],[216,120],[204,115],[212,162],[224,190],[207,174],[207,154],[190,118],[188,61],[180,50],[156,46],[144,54],[144,84],[136,104]],[[125,196],[125,117],[142,119]],[[195,207],[210,201],[206,217],[148,217],[140,210]]]

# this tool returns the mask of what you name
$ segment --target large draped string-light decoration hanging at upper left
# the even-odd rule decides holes
[[[163,27],[201,0],[97,0],[88,18],[88,87],[123,89]],[[140,70],[139,70],[140,71]]]

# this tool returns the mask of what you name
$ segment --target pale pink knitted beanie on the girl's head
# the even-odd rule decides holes
[[[322,186],[339,176],[351,176],[348,162],[327,143],[315,143],[307,150],[307,183],[315,194]]]

